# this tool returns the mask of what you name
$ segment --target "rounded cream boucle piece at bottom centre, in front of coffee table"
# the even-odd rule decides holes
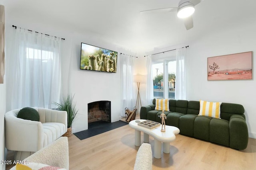
[[[152,170],[152,149],[148,143],[140,146],[134,164],[134,170]]]

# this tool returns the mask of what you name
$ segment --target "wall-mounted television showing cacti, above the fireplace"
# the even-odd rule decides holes
[[[116,72],[117,52],[81,43],[81,70]]]

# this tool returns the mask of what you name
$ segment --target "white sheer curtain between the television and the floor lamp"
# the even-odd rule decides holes
[[[121,116],[125,116],[125,107],[133,108],[135,106],[133,73],[134,57],[129,55],[120,55],[121,58]]]

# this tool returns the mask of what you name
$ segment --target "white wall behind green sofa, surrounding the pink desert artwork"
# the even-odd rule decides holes
[[[187,62],[188,100],[242,104],[249,137],[252,138],[256,138],[255,29],[255,22],[251,22],[209,33],[208,36],[189,44]],[[207,57],[247,51],[253,51],[252,80],[207,80]]]

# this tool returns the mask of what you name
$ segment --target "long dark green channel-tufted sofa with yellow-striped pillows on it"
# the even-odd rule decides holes
[[[152,103],[141,107],[140,119],[161,123],[158,115],[162,111],[155,110],[156,99]],[[180,134],[237,150],[246,149],[248,128],[242,105],[222,103],[220,106],[221,119],[198,115],[200,109],[199,101],[170,99],[169,107],[170,111],[164,112],[167,117],[166,125],[178,127]]]

